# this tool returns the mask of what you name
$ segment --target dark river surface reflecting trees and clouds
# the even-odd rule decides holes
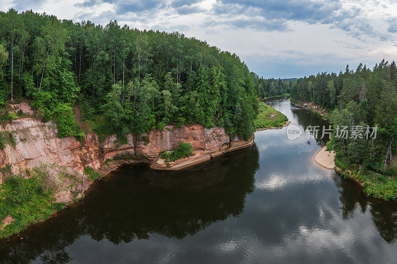
[[[300,127],[328,125],[271,104]],[[318,166],[325,140],[286,131],[256,132],[252,149],[192,171],[122,167],[23,240],[0,241],[0,263],[396,263],[397,204]]]

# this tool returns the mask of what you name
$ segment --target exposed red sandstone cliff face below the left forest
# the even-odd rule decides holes
[[[26,103],[13,105],[16,112],[22,109],[24,113],[33,114],[34,111]],[[127,135],[127,144],[119,145],[116,136],[109,136],[104,142],[99,142],[95,134],[88,134],[85,143],[80,143],[72,137],[58,138],[57,126],[53,122],[43,123],[37,118],[19,118],[0,126],[0,131],[12,132],[15,136],[15,146],[7,145],[0,151],[0,167],[11,165],[12,173],[26,175],[26,169],[33,169],[41,164],[56,164],[49,171],[55,182],[65,185],[60,186],[58,201],[70,201],[71,192],[87,189],[90,181],[84,175],[84,167],[91,166],[103,174],[115,169],[121,163],[128,163],[123,157],[146,157],[154,160],[152,167],[156,169],[170,169],[161,160],[159,154],[163,151],[175,149],[179,142],[188,142],[193,146],[194,157],[178,160],[172,164],[172,169],[185,168],[191,164],[206,161],[223,153],[251,146],[249,142],[237,137],[230,138],[225,130],[220,127],[203,128],[201,125],[176,127],[167,125],[163,130],[152,130],[142,135]],[[124,155],[128,156],[124,156]],[[117,161],[112,161],[115,158]],[[106,162],[109,161],[110,162]],[[62,171],[84,179],[84,186],[64,182],[57,178]],[[0,184],[6,175],[0,175]],[[77,186],[79,185],[79,186]]]

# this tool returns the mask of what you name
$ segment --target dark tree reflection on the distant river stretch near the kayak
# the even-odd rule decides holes
[[[327,142],[330,140],[329,135],[326,134],[323,139],[321,137],[323,135],[323,127],[328,129],[330,126],[329,122],[307,109],[291,106],[291,111],[297,117],[298,124],[302,126],[305,131],[308,126],[319,126],[319,132],[317,134],[316,141],[322,146],[327,144]],[[311,129],[310,132],[314,136],[313,129]]]

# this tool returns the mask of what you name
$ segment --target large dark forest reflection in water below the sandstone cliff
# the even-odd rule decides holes
[[[74,208],[36,224],[17,238],[0,243],[0,263],[66,263],[65,247],[82,235],[114,244],[147,239],[157,233],[183,238],[211,223],[244,211],[259,169],[256,146],[214,159],[192,171],[149,170],[147,165],[124,167],[93,186]]]

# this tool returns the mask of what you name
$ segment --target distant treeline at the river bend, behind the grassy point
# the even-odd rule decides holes
[[[265,79],[252,73],[256,80],[255,90],[258,97],[265,98],[270,96],[278,96],[289,94],[292,88],[292,80],[275,80],[274,78]]]

